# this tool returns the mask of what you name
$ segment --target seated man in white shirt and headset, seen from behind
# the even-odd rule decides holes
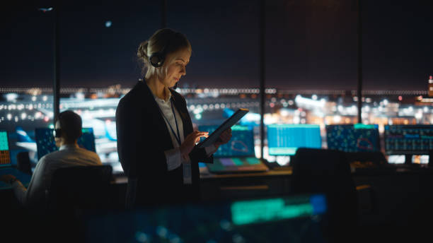
[[[11,174],[0,177],[2,181],[12,184],[21,205],[26,208],[45,209],[45,191],[49,191],[52,174],[60,167],[102,165],[96,153],[79,148],[77,140],[81,136],[81,126],[81,117],[72,111],[58,115],[53,135],[59,150],[40,158],[28,189]]]

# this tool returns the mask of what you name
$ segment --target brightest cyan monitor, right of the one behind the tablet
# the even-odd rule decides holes
[[[298,148],[321,148],[321,128],[315,124],[272,124],[267,126],[269,155],[295,155]]]

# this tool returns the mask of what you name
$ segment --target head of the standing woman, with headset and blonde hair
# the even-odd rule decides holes
[[[163,85],[173,87],[186,74],[191,52],[185,35],[165,28],[157,30],[149,40],[142,42],[137,56],[144,63],[146,80],[157,78]]]

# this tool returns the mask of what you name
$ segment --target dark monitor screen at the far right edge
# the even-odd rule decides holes
[[[384,140],[388,155],[425,155],[433,150],[433,125],[386,125]]]

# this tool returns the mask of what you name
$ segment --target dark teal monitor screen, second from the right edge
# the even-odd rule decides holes
[[[329,149],[344,152],[380,151],[378,125],[345,124],[326,126]]]

